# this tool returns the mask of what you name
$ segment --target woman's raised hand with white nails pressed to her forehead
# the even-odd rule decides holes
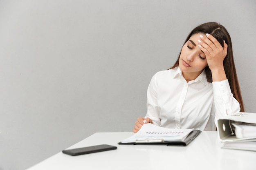
[[[223,40],[224,47],[210,34],[200,35],[199,48],[206,55],[206,60],[211,71],[224,69],[223,61],[227,55],[227,44]]]

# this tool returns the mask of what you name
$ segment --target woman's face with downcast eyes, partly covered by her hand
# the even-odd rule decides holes
[[[207,66],[205,54],[198,47],[200,35],[200,33],[192,35],[184,44],[180,53],[179,67],[183,76],[189,75],[191,76],[190,79],[198,77]]]

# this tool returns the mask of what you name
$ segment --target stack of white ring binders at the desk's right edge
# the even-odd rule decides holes
[[[218,119],[222,148],[256,151],[256,113],[236,113]]]

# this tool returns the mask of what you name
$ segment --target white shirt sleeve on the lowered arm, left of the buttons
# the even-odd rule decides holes
[[[160,118],[159,118],[159,108],[157,103],[157,74],[155,74],[148,86],[147,91],[147,114],[145,116],[152,119],[153,124],[159,126]]]

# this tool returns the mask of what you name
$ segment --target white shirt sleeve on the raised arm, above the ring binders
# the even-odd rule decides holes
[[[231,93],[228,79],[221,82],[212,82],[212,84],[216,108],[215,124],[217,126],[219,117],[225,117],[226,115],[240,112],[240,104]]]

